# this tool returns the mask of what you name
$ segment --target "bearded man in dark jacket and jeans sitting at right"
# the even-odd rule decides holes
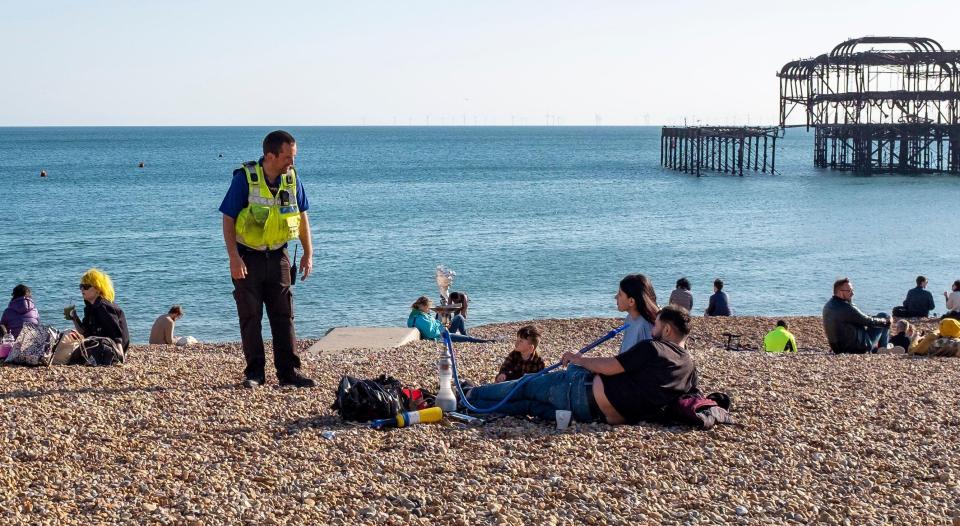
[[[867,316],[853,304],[853,284],[841,278],[833,284],[833,297],[823,306],[823,331],[835,353],[864,354],[885,348],[890,318]]]

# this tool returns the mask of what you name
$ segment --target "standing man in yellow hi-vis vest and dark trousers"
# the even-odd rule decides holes
[[[310,203],[293,167],[297,143],[285,131],[263,139],[263,157],[233,172],[230,189],[220,204],[223,240],[230,257],[233,297],[240,317],[240,338],[247,367],[244,387],[266,381],[261,322],[267,308],[273,334],[273,363],[280,385],[313,387],[300,374],[294,352],[293,293],[290,290],[290,255],[287,242],[300,239],[302,279],[313,271],[313,243],[307,210]]]

